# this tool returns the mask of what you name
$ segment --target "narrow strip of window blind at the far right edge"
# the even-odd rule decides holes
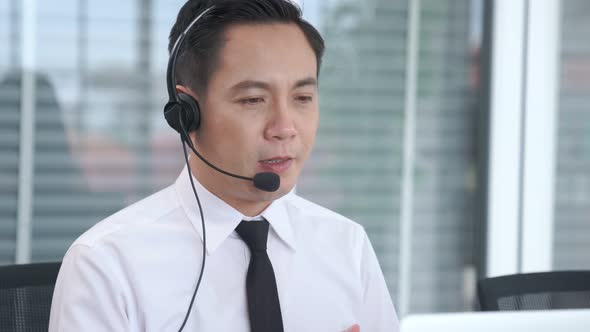
[[[555,269],[590,269],[590,3],[561,2]]]

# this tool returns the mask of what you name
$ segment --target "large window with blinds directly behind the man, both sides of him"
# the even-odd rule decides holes
[[[0,3],[0,264],[59,260],[96,222],[174,181],[183,156],[162,107],[183,2]],[[403,312],[473,301],[481,12],[476,0],[304,3],[327,53],[298,192],[366,228]],[[33,72],[17,70],[23,41]],[[24,100],[35,101],[26,114]],[[27,116],[34,128],[21,132]]]

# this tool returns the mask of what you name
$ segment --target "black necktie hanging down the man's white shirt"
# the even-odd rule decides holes
[[[236,232],[252,254],[246,276],[250,328],[252,332],[283,332],[277,282],[266,253],[268,221],[242,220]]]

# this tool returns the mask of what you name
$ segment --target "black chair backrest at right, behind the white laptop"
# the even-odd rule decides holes
[[[480,309],[545,310],[590,308],[590,271],[554,271],[482,279]]]

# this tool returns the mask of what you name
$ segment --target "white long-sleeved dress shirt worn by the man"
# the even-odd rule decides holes
[[[184,331],[249,332],[245,216],[195,180],[207,260]],[[294,193],[261,216],[285,332],[398,331],[362,226]],[[185,167],[176,182],[99,222],[68,249],[49,331],[178,331],[201,267],[202,229]]]

